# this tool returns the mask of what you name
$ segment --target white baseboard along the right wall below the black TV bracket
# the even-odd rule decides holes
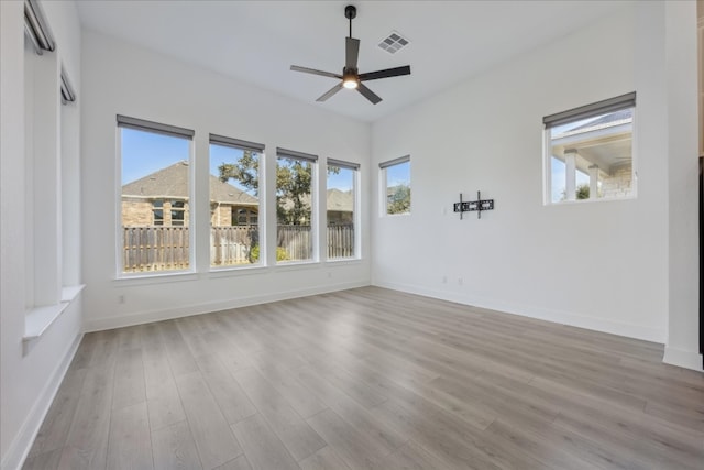
[[[552,321],[561,325],[569,325],[579,328],[586,328],[596,331],[608,332],[612,335],[625,336],[635,339],[642,339],[646,341],[664,343],[666,332],[658,328],[648,328],[640,325],[624,324],[618,321],[610,321],[603,318],[585,317],[582,315],[575,315],[568,311],[551,310],[547,308],[540,308],[536,306],[524,306],[509,304],[503,300],[493,298],[474,297],[464,294],[442,292],[429,289],[424,286],[388,283],[383,281],[373,281],[373,285],[378,287],[391,288],[394,291],[407,292],[409,294],[418,294],[426,297],[439,298],[448,302],[455,302],[458,304],[475,306],[480,308],[487,308],[491,310],[505,311],[512,315],[518,315],[521,317],[536,318],[546,321]]]

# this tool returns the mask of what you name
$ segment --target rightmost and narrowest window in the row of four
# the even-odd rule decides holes
[[[328,259],[354,258],[355,252],[355,199],[356,175],[360,165],[328,159],[328,194],[326,217],[328,221]]]

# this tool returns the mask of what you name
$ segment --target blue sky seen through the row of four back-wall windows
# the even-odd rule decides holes
[[[189,160],[190,141],[153,132],[120,128],[122,132],[122,185],[142,178],[174,163]],[[210,174],[218,176],[218,166],[223,162],[235,162],[242,156],[239,149],[210,145]],[[328,175],[328,188],[350,190],[354,184],[351,170]],[[230,179],[229,184],[246,193],[250,189]]]

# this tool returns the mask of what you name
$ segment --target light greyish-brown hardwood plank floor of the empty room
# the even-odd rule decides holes
[[[662,346],[365,287],[86,335],[25,469],[704,469]]]

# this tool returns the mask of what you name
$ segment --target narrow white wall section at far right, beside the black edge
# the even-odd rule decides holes
[[[666,29],[670,316],[664,361],[701,370],[698,318],[693,313],[698,310],[702,288],[702,280],[698,280],[697,153],[698,130],[704,122],[698,122],[697,116],[695,2],[667,3]]]

